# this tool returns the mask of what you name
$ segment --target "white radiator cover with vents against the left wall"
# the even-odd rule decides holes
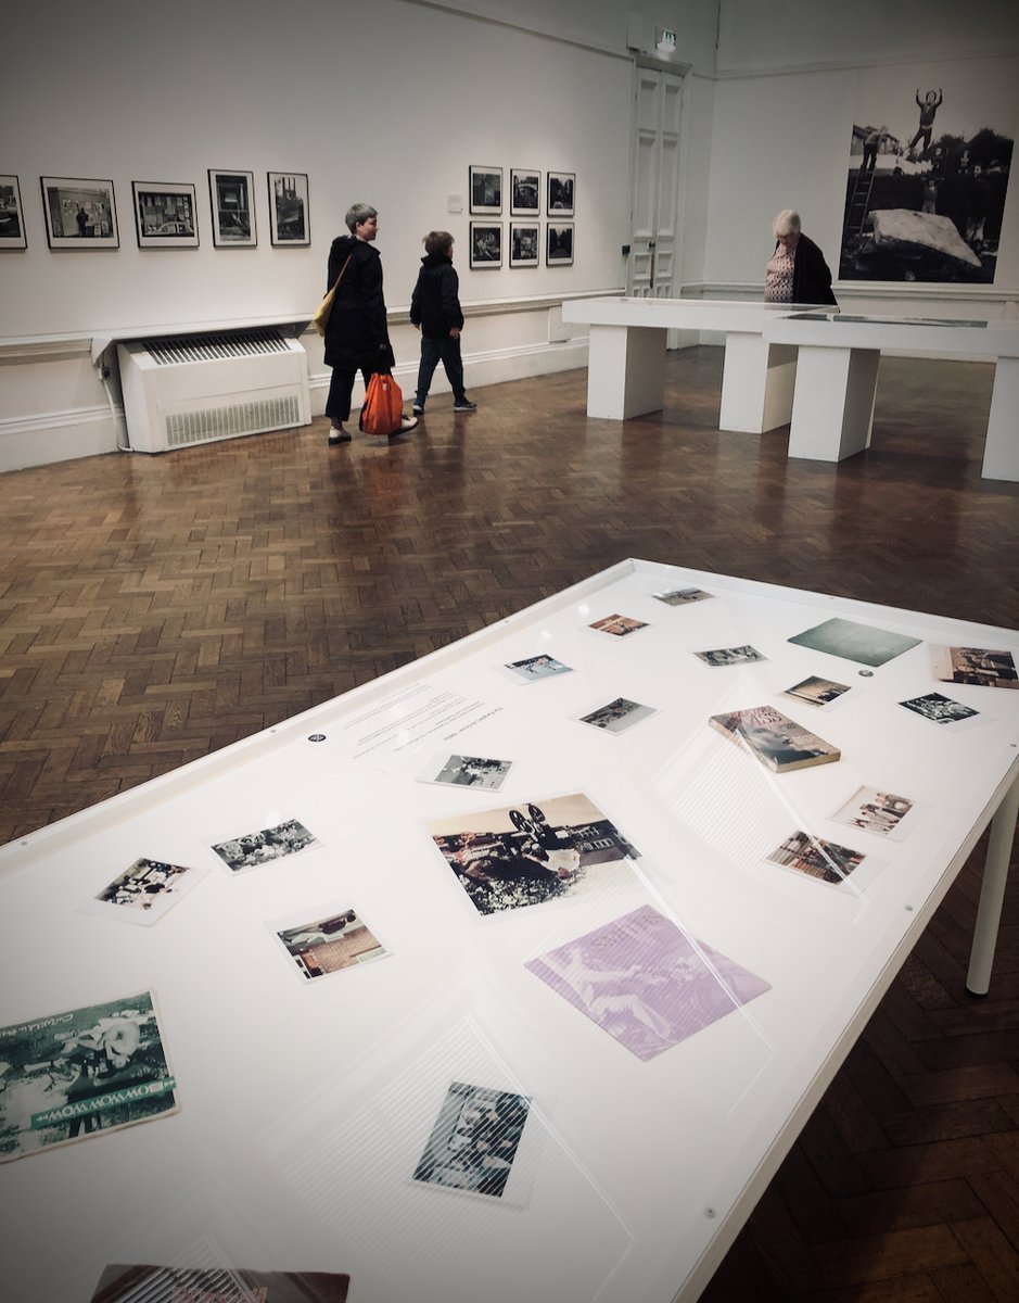
[[[278,330],[117,344],[128,438],[167,452],[311,421],[308,354]]]

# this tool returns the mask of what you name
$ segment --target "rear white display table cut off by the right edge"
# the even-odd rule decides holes
[[[1019,480],[1019,323],[913,321],[809,311],[765,323],[774,345],[799,348],[791,457],[842,461],[870,446],[882,349],[962,353],[997,362],[985,480]]]

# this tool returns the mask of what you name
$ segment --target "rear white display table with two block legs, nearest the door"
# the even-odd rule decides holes
[[[670,330],[723,331],[719,426],[762,434],[788,425],[796,349],[771,344],[764,324],[791,309],[765,304],[684,298],[580,298],[563,304],[563,321],[590,326],[588,416],[625,421],[665,403]]]

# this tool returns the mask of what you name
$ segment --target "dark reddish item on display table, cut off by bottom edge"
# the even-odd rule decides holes
[[[351,1277],[336,1272],[112,1263],[91,1303],[347,1303],[349,1289]]]

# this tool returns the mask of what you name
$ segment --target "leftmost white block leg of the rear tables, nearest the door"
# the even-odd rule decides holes
[[[625,421],[661,412],[666,331],[653,326],[592,326],[588,416]]]

